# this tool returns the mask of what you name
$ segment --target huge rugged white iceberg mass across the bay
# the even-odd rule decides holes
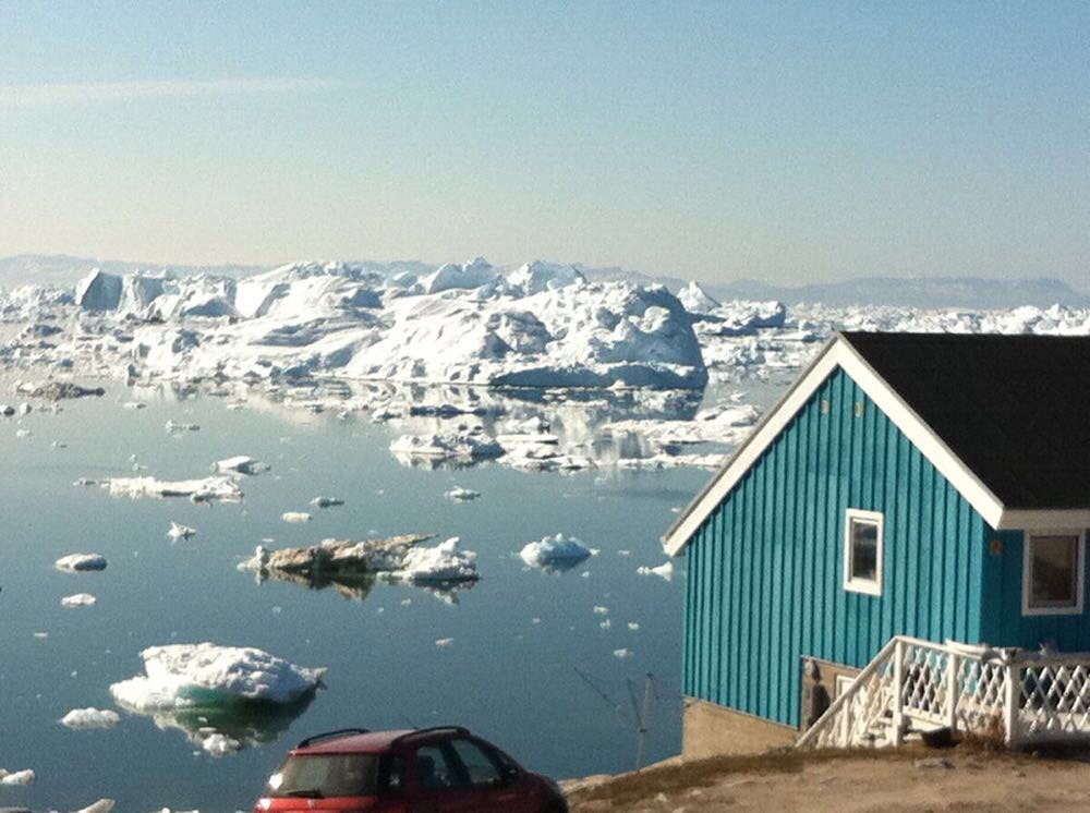
[[[234,281],[95,271],[75,296],[0,302],[65,314],[55,353],[173,380],[305,375],[529,387],[699,388],[689,314],[661,286],[591,282],[571,266],[501,271],[477,258],[415,276],[298,264]],[[51,326],[50,326],[51,327]],[[100,341],[81,340],[84,332]]]

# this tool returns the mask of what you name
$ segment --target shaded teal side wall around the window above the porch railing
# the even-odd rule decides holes
[[[1046,533],[1046,529],[1041,530]],[[996,646],[1037,648],[1044,642],[1065,652],[1090,651],[1090,579],[1083,572],[1082,614],[1024,616],[1022,531],[984,527],[980,550],[983,559],[984,596],[981,638]],[[996,542],[994,546],[992,543]],[[1090,572],[1090,568],[1087,569]]]

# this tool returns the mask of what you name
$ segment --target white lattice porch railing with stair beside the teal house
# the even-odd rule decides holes
[[[1090,654],[996,650],[898,635],[798,741],[881,748],[947,728],[1034,742],[1090,742]]]

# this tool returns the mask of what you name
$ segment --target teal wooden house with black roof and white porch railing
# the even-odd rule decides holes
[[[837,335],[664,537],[690,755],[1090,736],[1090,337]]]

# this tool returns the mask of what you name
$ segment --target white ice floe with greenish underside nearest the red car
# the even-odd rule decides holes
[[[325,672],[254,647],[211,643],[152,646],[141,657],[144,675],[110,687],[114,700],[138,712],[247,701],[292,703],[314,691]]]

